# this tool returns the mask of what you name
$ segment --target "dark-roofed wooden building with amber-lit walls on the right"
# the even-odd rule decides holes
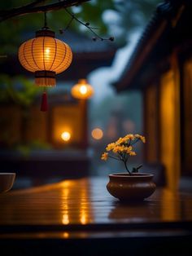
[[[192,174],[191,24],[191,1],[160,4],[114,85],[117,91],[141,90],[145,158],[164,164],[169,188]]]

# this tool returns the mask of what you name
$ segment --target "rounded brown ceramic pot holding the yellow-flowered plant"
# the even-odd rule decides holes
[[[155,192],[153,174],[109,174],[107,191],[120,201],[143,201]]]

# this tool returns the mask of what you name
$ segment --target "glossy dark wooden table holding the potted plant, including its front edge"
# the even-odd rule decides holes
[[[157,189],[125,205],[106,183],[65,180],[0,194],[0,255],[190,255],[191,193]]]

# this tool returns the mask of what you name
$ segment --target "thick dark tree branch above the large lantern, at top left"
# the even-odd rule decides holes
[[[88,2],[88,1],[90,0],[65,0],[65,1],[55,2],[49,5],[43,5],[39,7],[37,5],[43,1],[42,0],[34,1],[24,7],[13,8],[8,11],[1,11],[0,22],[2,22],[3,20],[11,19],[15,16],[26,15],[30,13],[57,11],[60,9],[65,9],[67,7],[80,5],[81,3]]]

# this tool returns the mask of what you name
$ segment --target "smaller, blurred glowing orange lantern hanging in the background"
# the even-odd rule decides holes
[[[94,89],[86,79],[80,79],[75,86],[72,86],[72,96],[76,99],[89,99],[94,95]]]

